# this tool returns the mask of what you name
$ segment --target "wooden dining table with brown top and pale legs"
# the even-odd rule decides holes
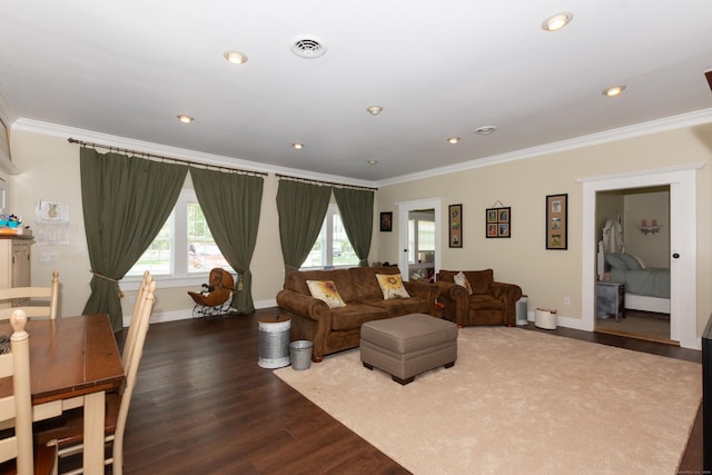
[[[83,406],[83,473],[103,473],[106,393],[123,382],[121,355],[106,314],[30,320],[32,418],[42,420]],[[12,335],[0,321],[0,335]],[[0,397],[12,382],[0,379]]]

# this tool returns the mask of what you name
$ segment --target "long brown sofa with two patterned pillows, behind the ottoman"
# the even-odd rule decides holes
[[[277,294],[277,305],[291,317],[291,340],[314,343],[314,362],[324,355],[355,348],[365,321],[407,314],[435,316],[438,287],[404,281],[411,298],[384,300],[376,274],[400,274],[397,267],[354,267],[350,269],[295,271]],[[332,280],[346,306],[329,308],[312,297],[307,280]]]

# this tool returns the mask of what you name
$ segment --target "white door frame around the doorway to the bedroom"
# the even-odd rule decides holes
[[[665,169],[643,170],[606,177],[580,179],[583,182],[582,247],[582,329],[593,331],[595,325],[596,276],[596,192],[624,188],[670,185],[670,258],[671,308],[670,337],[683,348],[701,349],[698,337],[696,289],[696,191],[695,170],[703,164]]]

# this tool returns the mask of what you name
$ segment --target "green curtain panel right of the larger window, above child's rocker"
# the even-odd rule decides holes
[[[215,244],[238,273],[231,307],[255,311],[249,264],[257,244],[265,179],[250,175],[191,168],[190,177]]]

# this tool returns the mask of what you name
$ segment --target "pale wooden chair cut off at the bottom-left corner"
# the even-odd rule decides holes
[[[30,390],[30,343],[24,324],[27,315],[16,309],[10,316],[14,331],[10,352],[0,355],[0,378],[12,377],[12,395],[0,398],[0,422],[14,432],[0,434],[0,474],[49,474],[56,462],[56,447],[32,442],[32,394]],[[2,348],[2,352],[6,349]]]

